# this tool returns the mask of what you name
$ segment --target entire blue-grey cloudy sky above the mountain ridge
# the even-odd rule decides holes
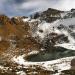
[[[29,16],[48,8],[70,10],[75,0],[0,0],[0,13],[8,16]]]

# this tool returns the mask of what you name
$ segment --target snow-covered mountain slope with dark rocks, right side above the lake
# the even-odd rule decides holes
[[[34,37],[39,36],[41,40],[44,40],[46,37],[48,37],[50,41],[54,39],[55,46],[75,50],[74,13],[75,12],[67,12],[66,15],[63,16],[63,18],[57,19],[52,23],[47,23],[45,21],[39,23],[36,31],[33,34]],[[68,14],[70,14],[70,16]],[[55,34],[52,36],[52,33]],[[58,38],[59,36],[60,38]]]

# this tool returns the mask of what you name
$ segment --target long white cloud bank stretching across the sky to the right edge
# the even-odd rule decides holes
[[[70,10],[75,8],[75,0],[29,0],[18,6],[18,9],[23,10],[35,9],[31,13],[46,10],[47,8]]]

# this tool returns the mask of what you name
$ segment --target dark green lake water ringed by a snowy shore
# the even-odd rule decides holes
[[[53,49],[53,51],[46,50],[46,51],[41,51],[38,54],[30,55],[27,57],[27,60],[32,62],[41,62],[41,61],[55,60],[70,56],[75,56],[75,51],[67,50],[65,48],[55,48]]]

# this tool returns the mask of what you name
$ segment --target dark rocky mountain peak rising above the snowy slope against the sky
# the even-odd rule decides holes
[[[40,20],[44,20],[46,22],[53,22],[57,19],[61,18],[61,13],[64,13],[64,11],[60,11],[57,9],[53,9],[53,8],[48,8],[46,11],[43,12],[36,12],[34,15],[32,15],[32,18],[34,19],[38,19],[40,18]]]

